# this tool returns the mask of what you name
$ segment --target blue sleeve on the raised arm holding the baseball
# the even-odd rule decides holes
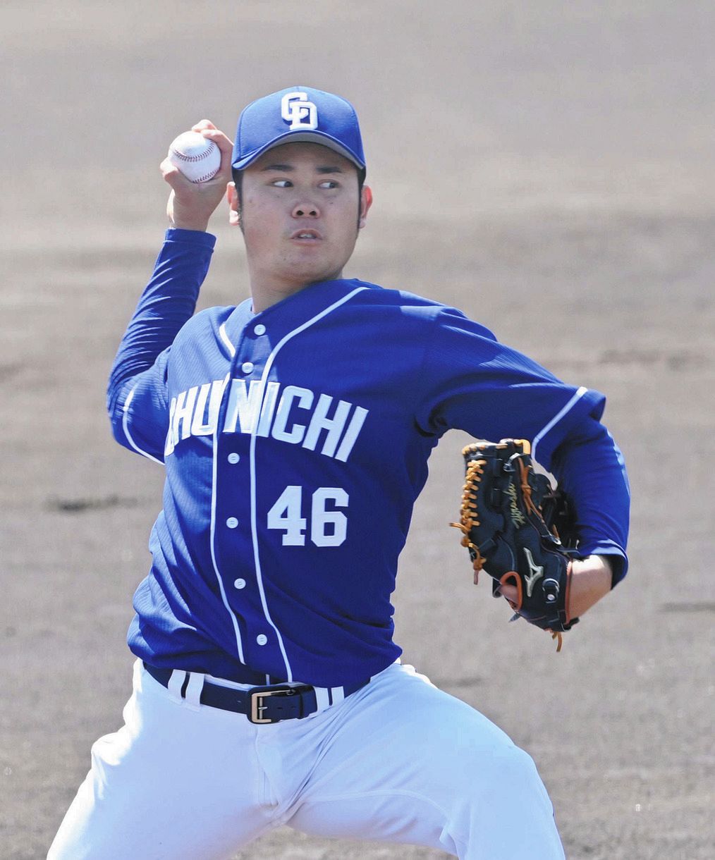
[[[114,438],[158,463],[163,463],[169,426],[171,344],[194,314],[215,242],[208,233],[166,231],[109,376],[107,408]]]

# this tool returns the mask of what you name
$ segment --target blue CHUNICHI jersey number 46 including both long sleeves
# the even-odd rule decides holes
[[[604,396],[459,310],[361,280],[194,314],[214,242],[167,232],[109,382],[115,438],[166,470],[134,654],[249,684],[385,669],[401,653],[398,556],[453,427],[530,439],[574,500],[583,554],[626,573],[628,485]]]

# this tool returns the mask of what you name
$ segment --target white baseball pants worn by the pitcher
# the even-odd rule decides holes
[[[48,860],[218,860],[280,825],[465,860],[564,860],[532,759],[412,667],[271,725],[198,704],[193,677],[182,700],[137,661],[125,725],[92,747]]]

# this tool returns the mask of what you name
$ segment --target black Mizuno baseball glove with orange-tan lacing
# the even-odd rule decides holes
[[[571,560],[578,556],[568,500],[533,470],[526,439],[475,442],[462,451],[466,477],[459,523],[474,582],[484,569],[492,593],[515,586],[512,621],[526,618],[558,640],[576,624],[569,616]],[[573,543],[573,548],[567,548]]]

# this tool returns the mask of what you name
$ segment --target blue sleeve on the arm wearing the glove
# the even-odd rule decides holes
[[[618,446],[601,424],[606,398],[565,384],[459,310],[445,308],[424,353],[422,433],[528,439],[576,511],[579,549],[607,555],[613,584],[626,574],[630,489]]]

